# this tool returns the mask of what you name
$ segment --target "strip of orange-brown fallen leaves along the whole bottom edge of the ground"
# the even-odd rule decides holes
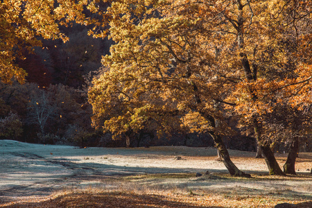
[[[62,193],[40,202],[12,202],[0,207],[274,207],[278,203],[289,202],[270,196],[221,196],[189,193],[135,193],[127,191],[76,191]],[[312,201],[289,202],[297,207],[312,207]]]

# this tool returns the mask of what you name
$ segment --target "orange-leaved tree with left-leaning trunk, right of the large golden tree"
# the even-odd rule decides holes
[[[263,1],[257,5],[236,1],[239,15],[225,15],[234,29],[240,49],[236,58],[245,73],[236,91],[236,110],[254,126],[270,174],[283,175],[270,150],[270,141],[263,138],[267,133],[266,115],[274,110],[275,103],[287,102],[286,98],[295,98],[303,86],[311,86],[311,65],[295,54],[300,50],[296,48],[300,39],[305,33],[311,34],[303,27],[311,21],[309,8],[305,2],[296,1]]]

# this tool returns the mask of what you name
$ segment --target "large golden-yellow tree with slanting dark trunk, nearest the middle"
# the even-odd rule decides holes
[[[116,44],[103,58],[107,71],[89,90],[92,119],[114,135],[127,136],[146,126],[159,133],[173,128],[209,132],[229,173],[248,176],[232,163],[222,140],[227,127],[216,105],[226,103],[232,83],[216,64],[218,49],[211,44],[209,26],[213,20],[200,19],[200,5],[194,6],[112,3],[110,37]]]

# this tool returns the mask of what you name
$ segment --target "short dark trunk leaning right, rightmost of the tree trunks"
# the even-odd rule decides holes
[[[295,162],[298,150],[299,150],[299,141],[298,138],[295,138],[291,144],[291,150],[289,150],[287,160],[283,166],[284,173],[296,175]]]

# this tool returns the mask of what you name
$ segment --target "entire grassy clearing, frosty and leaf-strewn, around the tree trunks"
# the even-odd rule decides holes
[[[230,176],[216,161],[216,148],[80,149],[0,140],[0,207],[274,207],[282,202],[312,207],[312,153],[300,153],[297,175],[286,177],[268,175],[266,162],[255,153],[229,154],[251,178]],[[287,154],[275,157],[282,167]]]

